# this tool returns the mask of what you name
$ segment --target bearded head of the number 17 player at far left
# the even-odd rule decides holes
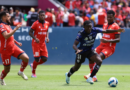
[[[1,20],[3,22],[5,22],[7,24],[10,24],[10,18],[11,18],[11,16],[9,15],[8,12],[5,12],[5,11],[1,12],[0,13],[0,18],[1,18]]]

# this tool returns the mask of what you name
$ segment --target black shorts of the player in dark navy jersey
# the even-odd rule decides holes
[[[87,51],[82,54],[77,54],[75,62],[81,64],[85,61],[85,58],[88,58],[90,60],[90,57],[92,57],[93,55],[97,55],[95,50]]]

